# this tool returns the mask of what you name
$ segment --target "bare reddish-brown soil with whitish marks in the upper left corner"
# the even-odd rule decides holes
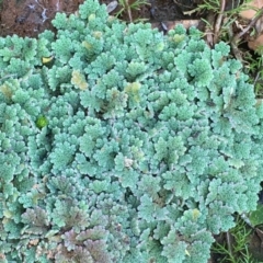
[[[68,14],[78,10],[83,0],[3,0],[0,13],[2,36],[37,36],[46,28],[53,28],[56,12]]]

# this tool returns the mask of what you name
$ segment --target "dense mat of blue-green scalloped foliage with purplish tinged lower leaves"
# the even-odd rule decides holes
[[[241,64],[96,0],[53,24],[0,38],[2,262],[207,262],[263,180]]]

